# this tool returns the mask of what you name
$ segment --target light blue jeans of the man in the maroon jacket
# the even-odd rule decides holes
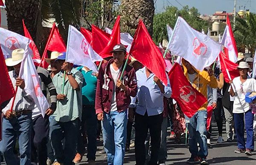
[[[102,134],[108,165],[122,165],[125,157],[127,110],[104,112]]]

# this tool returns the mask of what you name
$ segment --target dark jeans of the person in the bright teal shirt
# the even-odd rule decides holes
[[[81,155],[85,153],[85,144],[83,139],[84,131],[87,132],[88,138],[87,158],[88,160],[95,160],[97,149],[97,116],[94,105],[83,105],[82,121],[77,142],[77,152]]]

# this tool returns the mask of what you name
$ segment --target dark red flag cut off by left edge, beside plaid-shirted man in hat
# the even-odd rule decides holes
[[[0,104],[11,99],[14,94],[12,81],[8,74],[8,69],[3,57],[2,49],[0,48]]]

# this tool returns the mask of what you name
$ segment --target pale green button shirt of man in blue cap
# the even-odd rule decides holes
[[[68,78],[65,80],[64,83],[64,94],[66,95],[64,100],[57,100],[57,108],[54,112],[55,120],[57,122],[69,122],[75,120],[79,117],[81,120],[82,116],[82,94],[81,88],[83,85],[84,77],[80,71],[72,68],[71,73],[73,77],[79,84],[80,90],[74,90],[70,85]],[[56,74],[53,79],[52,83],[54,84],[57,94],[62,93],[62,86],[63,86],[63,73],[59,72]]]

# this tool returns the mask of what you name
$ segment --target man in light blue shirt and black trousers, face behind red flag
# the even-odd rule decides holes
[[[166,75],[167,76],[167,75]],[[158,150],[161,141],[161,125],[163,121],[163,97],[170,98],[172,89],[144,67],[136,71],[137,97],[132,98],[131,105],[138,99],[135,114],[135,157],[137,165],[145,164],[145,139],[148,129],[151,137],[151,158],[149,165],[157,165]]]

